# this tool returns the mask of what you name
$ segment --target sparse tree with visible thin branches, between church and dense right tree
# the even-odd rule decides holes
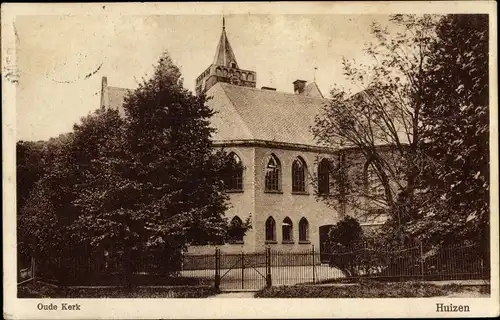
[[[392,32],[374,24],[372,33],[377,40],[366,48],[373,64],[343,60],[344,75],[361,92],[353,95],[334,87],[331,102],[313,127],[320,143],[337,150],[357,150],[365,165],[357,171],[351,168],[351,172],[338,166],[333,171],[344,172],[332,176],[340,179],[334,182],[342,188],[321,197],[333,204],[347,202],[362,214],[383,210],[399,231],[416,213],[415,191],[422,167],[423,77],[435,19],[395,15]]]

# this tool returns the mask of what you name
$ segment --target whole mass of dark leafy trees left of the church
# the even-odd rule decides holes
[[[223,178],[235,168],[212,147],[205,101],[183,88],[164,54],[153,77],[126,97],[124,117],[99,109],[49,142],[50,165],[20,214],[27,251],[50,256],[66,270],[59,274],[90,257],[117,262],[130,284],[144,267],[137,262],[168,274],[186,245],[223,242]]]

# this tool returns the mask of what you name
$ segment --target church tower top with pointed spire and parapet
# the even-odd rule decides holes
[[[257,74],[255,71],[243,70],[238,66],[236,56],[227,39],[225,24],[223,17],[222,34],[215,51],[214,61],[196,78],[196,94],[198,95],[210,89],[217,82],[255,88]]]

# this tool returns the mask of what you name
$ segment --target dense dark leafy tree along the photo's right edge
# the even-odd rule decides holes
[[[448,15],[425,78],[422,206],[409,232],[433,244],[480,240],[489,256],[487,15]]]

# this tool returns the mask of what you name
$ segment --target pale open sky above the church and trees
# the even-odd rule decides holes
[[[350,87],[343,57],[369,60],[363,49],[374,40],[372,22],[389,24],[385,15],[225,19],[238,65],[257,72],[258,88],[293,92],[294,80],[316,78],[325,96],[332,85]],[[99,107],[103,76],[110,86],[134,89],[164,51],[194,91],[196,77],[213,61],[222,15],[30,15],[17,16],[15,30],[17,140],[46,140],[71,131]]]

